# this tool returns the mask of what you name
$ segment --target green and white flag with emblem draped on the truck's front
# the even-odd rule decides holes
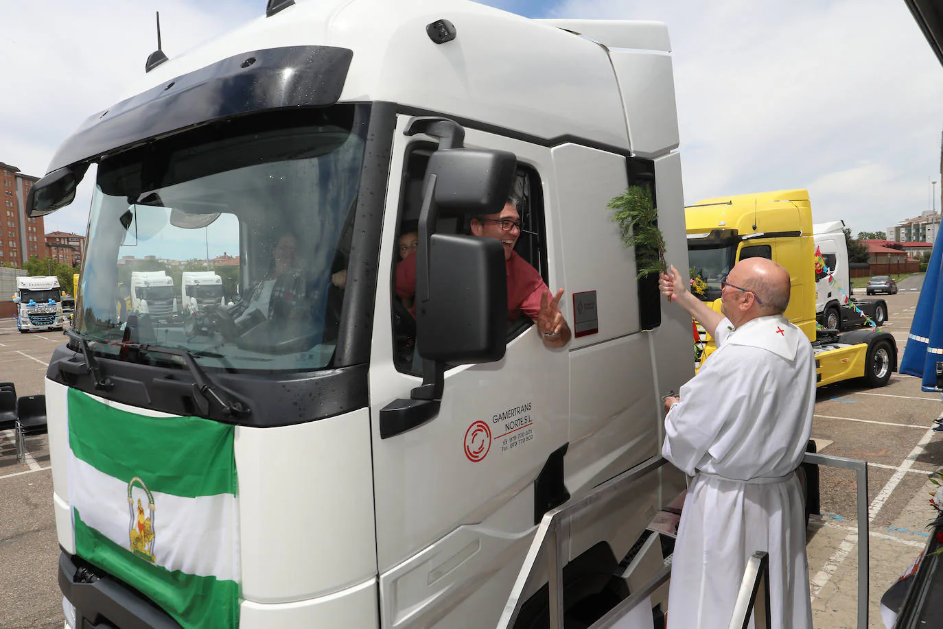
[[[234,430],[69,389],[75,550],[184,627],[239,624]]]

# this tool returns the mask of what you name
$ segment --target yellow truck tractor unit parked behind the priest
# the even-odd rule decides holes
[[[786,317],[812,342],[819,387],[864,378],[883,387],[897,371],[897,343],[880,328],[841,333],[816,324],[815,239],[806,190],[704,199],[685,208],[692,291],[720,311],[720,278],[741,259],[767,257],[792,277]],[[700,292],[699,292],[700,291]],[[716,349],[703,332],[703,356]]]

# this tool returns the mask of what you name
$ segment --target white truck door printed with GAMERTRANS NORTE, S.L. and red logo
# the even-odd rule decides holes
[[[424,159],[436,145],[422,135],[405,137],[407,121],[398,120],[391,158],[370,370],[380,616],[384,627],[493,627],[535,522],[547,501],[566,499],[549,489],[562,487],[562,469],[554,470],[568,441],[568,349],[544,347],[526,318],[509,324],[501,361],[448,369],[438,416],[381,438],[381,409],[409,398],[422,381],[410,373],[408,330],[394,319],[411,315],[395,305],[393,277],[400,236],[418,216]],[[545,190],[553,187],[549,149],[472,129],[465,145],[518,157],[523,231],[516,251],[551,290],[563,288],[557,235],[544,224],[551,216]],[[441,217],[437,231],[466,226],[460,217]],[[560,307],[572,325],[568,303]],[[545,469],[559,482],[544,483],[548,489],[536,495]]]

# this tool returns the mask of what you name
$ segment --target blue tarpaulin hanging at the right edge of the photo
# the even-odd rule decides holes
[[[934,243],[934,252],[923,278],[923,288],[910,324],[907,348],[901,361],[901,372],[923,378],[923,390],[936,389],[936,362],[943,361],[943,290],[940,290],[943,244]]]

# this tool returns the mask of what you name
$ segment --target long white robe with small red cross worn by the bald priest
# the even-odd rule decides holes
[[[731,620],[747,560],[769,553],[774,629],[811,629],[802,486],[812,432],[812,346],[785,317],[715,331],[718,350],[681,387],[662,455],[689,476],[669,594],[669,629]],[[753,627],[753,622],[751,622]]]

